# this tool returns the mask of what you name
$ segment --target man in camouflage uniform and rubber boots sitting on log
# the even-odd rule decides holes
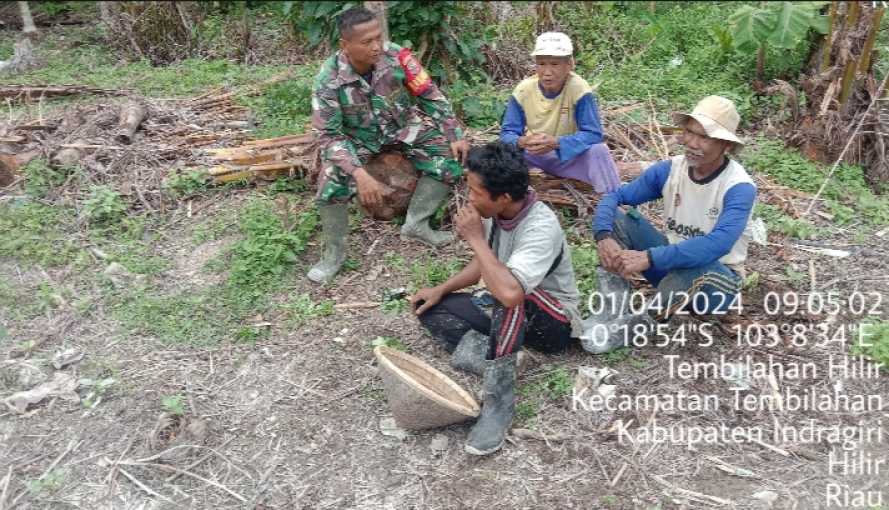
[[[429,218],[462,175],[457,159],[465,160],[469,150],[447,99],[410,50],[383,42],[382,27],[372,13],[349,9],[338,25],[341,49],[322,64],[312,94],[325,247],[308,276],[319,283],[333,278],[345,261],[349,200],[357,193],[366,206],[382,201],[382,185],[364,169],[370,156],[383,146],[395,146],[423,174],[401,236],[439,246],[453,235],[432,230]],[[441,129],[424,125],[417,105]]]

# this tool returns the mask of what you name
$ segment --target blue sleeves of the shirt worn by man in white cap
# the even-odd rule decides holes
[[[542,92],[542,90],[541,90]],[[544,96],[553,99],[558,94],[550,97],[544,92]],[[559,148],[556,154],[559,161],[574,159],[583,151],[597,143],[602,143],[602,122],[599,120],[599,107],[596,98],[592,94],[584,94],[574,106],[574,120],[577,124],[577,132],[572,135],[559,137]],[[503,120],[500,123],[500,141],[504,143],[518,143],[520,136],[525,134],[525,111],[515,97],[509,97]]]

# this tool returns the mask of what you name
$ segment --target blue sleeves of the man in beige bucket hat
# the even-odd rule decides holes
[[[597,238],[600,232],[613,230],[618,206],[636,206],[661,198],[671,166],[670,160],[658,161],[632,182],[605,195],[596,207],[596,218],[593,220]],[[740,183],[729,188],[723,197],[722,212],[713,230],[676,244],[650,248],[648,253],[652,268],[669,271],[699,267],[719,260],[731,251],[744,233],[755,199],[756,187],[752,184]]]

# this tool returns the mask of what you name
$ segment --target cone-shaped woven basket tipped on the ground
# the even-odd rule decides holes
[[[466,390],[427,363],[386,346],[374,349],[389,407],[399,427],[422,430],[478,417]]]

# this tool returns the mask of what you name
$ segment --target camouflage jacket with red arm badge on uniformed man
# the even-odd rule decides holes
[[[361,166],[356,144],[377,153],[416,133],[422,124],[418,105],[448,141],[463,137],[447,98],[410,50],[386,43],[370,84],[338,51],[315,77],[312,128],[324,157],[351,174]]]

